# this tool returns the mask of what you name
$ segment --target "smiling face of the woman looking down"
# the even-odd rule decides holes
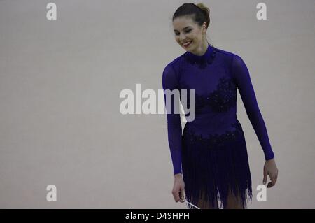
[[[187,51],[197,52],[202,44],[207,42],[205,39],[206,22],[200,27],[190,17],[176,17],[173,27],[176,42]]]

